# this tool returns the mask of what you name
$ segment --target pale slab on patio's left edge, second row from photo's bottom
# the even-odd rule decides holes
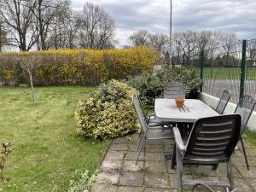
[[[119,183],[119,172],[100,172],[96,177],[96,183],[117,184]]]

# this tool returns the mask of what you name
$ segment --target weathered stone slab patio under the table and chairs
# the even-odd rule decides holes
[[[146,144],[140,159],[137,158],[138,134],[113,140],[100,165],[100,172],[92,192],[174,192],[177,191],[176,170],[171,161],[164,159],[165,153],[172,153],[174,141],[150,141]],[[233,154],[233,174],[237,192],[256,192],[256,148],[249,144],[247,154],[250,171],[247,171],[240,148]],[[221,180],[225,179],[226,167],[219,165],[216,172],[211,166],[185,166],[184,176]],[[189,191],[186,188],[185,191]],[[190,189],[191,190],[191,189]],[[224,189],[216,189],[224,191]],[[201,189],[201,191],[207,191]]]

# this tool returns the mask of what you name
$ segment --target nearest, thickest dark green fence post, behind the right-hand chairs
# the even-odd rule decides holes
[[[242,41],[242,52],[241,52],[241,71],[240,71],[240,94],[241,99],[244,96],[244,84],[246,77],[246,66],[247,66],[247,40]]]

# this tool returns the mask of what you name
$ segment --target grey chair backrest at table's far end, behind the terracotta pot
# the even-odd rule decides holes
[[[185,98],[184,84],[181,82],[167,83],[164,88],[164,98],[176,99]]]

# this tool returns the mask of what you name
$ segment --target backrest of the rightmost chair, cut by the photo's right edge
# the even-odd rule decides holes
[[[253,96],[242,96],[236,106],[234,113],[241,115],[241,134],[247,128],[248,120],[255,108],[256,100]]]

